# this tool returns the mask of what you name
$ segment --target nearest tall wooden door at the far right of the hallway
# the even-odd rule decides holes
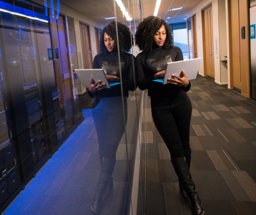
[[[231,59],[233,86],[241,89],[239,0],[230,1],[231,12]]]

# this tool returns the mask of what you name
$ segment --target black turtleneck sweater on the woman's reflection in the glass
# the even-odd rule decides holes
[[[132,58],[134,58],[134,66]],[[129,96],[128,91],[134,91],[136,89],[135,87],[137,87],[137,85],[134,85],[133,68],[135,67],[136,69],[135,57],[126,52],[122,52],[122,54],[120,54],[120,62],[122,71],[123,95]],[[120,78],[118,52],[111,51],[109,55],[96,55],[93,59],[93,69],[103,69],[105,74],[114,75]],[[93,97],[93,94],[91,94],[89,90],[88,93],[91,97]],[[109,89],[104,88],[99,90],[98,95],[100,98],[122,96],[121,84],[111,86]]]

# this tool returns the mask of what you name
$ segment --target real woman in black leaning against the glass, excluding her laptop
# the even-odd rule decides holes
[[[148,89],[154,124],[171,154],[182,197],[190,200],[193,215],[203,215],[201,201],[189,171],[192,106],[186,92],[191,84],[184,71],[180,77],[172,75],[167,84],[153,81],[163,78],[167,63],[183,60],[182,51],[173,46],[171,30],[166,21],[156,16],[149,16],[139,23],[135,44],[142,51],[136,57],[138,87],[141,90]]]

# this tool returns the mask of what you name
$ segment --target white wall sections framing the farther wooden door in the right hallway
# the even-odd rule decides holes
[[[202,33],[202,9],[206,7],[208,4],[211,3],[212,5],[212,19],[213,19],[213,39],[214,39],[214,67],[215,67],[215,82],[219,84],[227,84],[227,69],[221,70],[221,65],[220,65],[220,46],[219,46],[219,6],[218,2],[221,1],[221,4],[225,2],[225,0],[202,0],[197,4],[190,12],[187,13],[187,19],[193,15],[196,15],[196,34],[197,34],[197,52],[198,52],[198,57],[203,59],[203,33]],[[221,16],[223,17],[223,15]],[[225,17],[225,15],[224,15]],[[223,31],[223,29],[220,29]],[[217,37],[217,47],[218,47],[218,58],[215,48],[216,48],[216,42],[215,42],[215,37]],[[222,38],[221,38],[222,39]],[[203,60],[202,63],[199,67],[199,74],[204,76],[204,66],[203,66]]]

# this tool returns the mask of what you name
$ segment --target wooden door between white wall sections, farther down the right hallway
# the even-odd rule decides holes
[[[206,74],[215,77],[214,71],[214,47],[213,47],[213,25],[212,25],[212,7],[203,11],[203,39],[204,39],[204,66]]]

